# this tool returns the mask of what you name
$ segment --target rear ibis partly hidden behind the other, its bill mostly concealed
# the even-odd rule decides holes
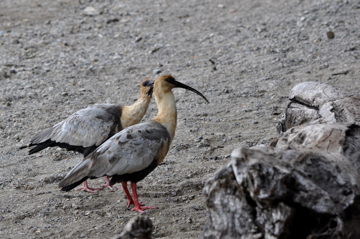
[[[29,154],[47,147],[59,146],[82,153],[86,157],[117,132],[141,121],[149,107],[153,85],[154,80],[149,78],[141,82],[139,98],[133,105],[96,104],[71,114],[65,120],[33,137],[29,147],[35,147]],[[105,180],[106,184],[102,186],[112,189],[107,176]],[[79,188],[81,189],[90,193],[102,190],[88,187],[87,180]]]

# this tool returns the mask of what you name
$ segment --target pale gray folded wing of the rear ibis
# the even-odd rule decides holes
[[[109,113],[109,108],[117,109],[119,106],[98,104],[82,109],[35,136],[31,143],[38,144],[51,140],[75,146],[98,146],[109,137],[120,120],[120,108],[112,111],[118,115]]]

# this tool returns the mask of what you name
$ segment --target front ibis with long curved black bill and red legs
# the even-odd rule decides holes
[[[177,111],[172,89],[180,87],[201,95],[199,91],[175,80],[171,75],[159,76],[154,83],[154,97],[158,114],[152,120],[130,126],[108,139],[104,144],[78,163],[59,183],[62,191],[69,191],[86,179],[94,179],[104,175],[112,176],[110,185],[117,182],[127,188],[131,181],[134,196],[132,201],[129,191],[125,190],[128,206],[134,203],[136,210],[143,213],[136,193],[136,183],[144,179],[165,158],[171,141],[175,135]]]

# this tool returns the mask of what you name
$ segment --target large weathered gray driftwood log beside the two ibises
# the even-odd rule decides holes
[[[360,95],[298,84],[277,129],[206,182],[199,239],[360,238]]]

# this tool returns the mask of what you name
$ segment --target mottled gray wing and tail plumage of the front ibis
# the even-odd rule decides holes
[[[166,127],[156,121],[130,126],[112,136],[78,163],[60,182],[59,187],[80,183],[86,177],[139,172],[148,168],[154,161],[155,168],[165,158],[170,140]],[[148,173],[142,175],[142,178]]]

